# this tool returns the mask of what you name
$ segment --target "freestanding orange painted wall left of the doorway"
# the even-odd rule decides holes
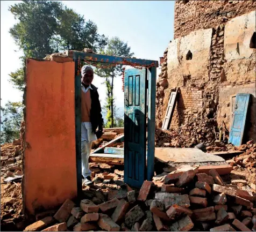
[[[74,66],[27,60],[23,195],[32,214],[77,195]]]

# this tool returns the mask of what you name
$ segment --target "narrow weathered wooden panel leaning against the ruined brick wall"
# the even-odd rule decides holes
[[[179,88],[177,88],[176,92],[170,93],[169,102],[167,105],[166,113],[165,113],[165,119],[163,119],[162,123],[162,129],[168,130],[170,127],[170,122],[172,122],[172,117],[177,101],[177,94],[178,94]]]

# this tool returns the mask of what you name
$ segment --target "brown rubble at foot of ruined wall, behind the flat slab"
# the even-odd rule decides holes
[[[163,131],[158,128],[155,141],[157,147],[195,147],[202,142],[209,146],[217,138],[216,124],[214,118],[205,118],[197,122],[189,121],[178,129]]]

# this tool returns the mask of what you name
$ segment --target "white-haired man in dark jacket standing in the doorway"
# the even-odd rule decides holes
[[[83,185],[90,185],[91,171],[89,169],[89,155],[91,144],[102,136],[103,118],[101,103],[97,88],[91,84],[94,79],[94,70],[89,65],[84,65],[81,70],[81,156]],[[96,129],[98,131],[96,132]]]

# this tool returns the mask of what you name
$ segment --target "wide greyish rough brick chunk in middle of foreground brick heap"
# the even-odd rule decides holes
[[[168,193],[169,197],[163,198],[163,203],[165,208],[169,209],[170,206],[176,204],[182,207],[188,208],[190,206],[190,201],[188,194],[179,195],[177,193]]]

